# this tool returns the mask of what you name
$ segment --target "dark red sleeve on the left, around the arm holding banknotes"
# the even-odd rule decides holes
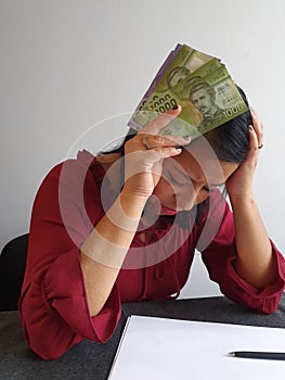
[[[20,300],[27,341],[44,359],[61,356],[82,339],[106,341],[120,317],[116,286],[102,312],[89,315],[79,248],[102,215],[100,191],[86,165],[68,161],[64,166],[67,175],[62,175],[63,165],[56,166],[36,197]]]

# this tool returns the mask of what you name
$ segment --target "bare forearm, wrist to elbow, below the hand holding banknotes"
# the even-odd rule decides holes
[[[81,246],[80,262],[91,316],[100,313],[116,281],[119,269],[137,230],[145,200],[122,190],[111,207],[118,220],[132,219],[128,229],[103,216]],[[119,213],[119,207],[121,211]]]

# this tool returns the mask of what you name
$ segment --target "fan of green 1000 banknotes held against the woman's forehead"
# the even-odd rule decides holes
[[[140,130],[178,104],[182,107],[179,117],[161,135],[194,139],[248,110],[219,59],[180,43],[163,63],[128,126]]]

